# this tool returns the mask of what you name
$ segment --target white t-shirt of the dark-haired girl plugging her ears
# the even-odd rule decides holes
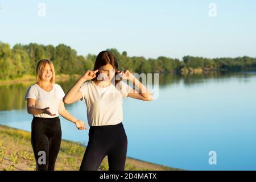
[[[131,91],[131,86],[119,81],[116,86],[110,84],[102,88],[94,81],[86,81],[81,85],[81,100],[87,106],[89,126],[117,125],[123,121],[123,98]]]

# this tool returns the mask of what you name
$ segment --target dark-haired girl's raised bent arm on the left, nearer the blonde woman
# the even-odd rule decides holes
[[[76,82],[75,85],[72,86],[71,89],[68,90],[68,93],[63,98],[63,101],[65,104],[72,104],[82,98],[82,93],[79,90],[80,86],[84,84],[85,81],[91,80],[94,77],[96,77],[96,73],[98,72],[98,69],[96,71],[90,71],[88,70],[84,75],[79,78],[79,80]]]

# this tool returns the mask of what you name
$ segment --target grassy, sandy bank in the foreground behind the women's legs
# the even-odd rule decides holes
[[[35,170],[35,159],[30,143],[30,132],[0,125],[0,170]],[[79,170],[85,146],[80,143],[62,140],[56,161],[56,170]],[[127,158],[126,170],[177,170],[166,166]],[[108,170],[106,157],[100,170]]]

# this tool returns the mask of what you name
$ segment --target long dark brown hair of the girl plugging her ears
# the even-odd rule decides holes
[[[100,53],[98,53],[98,56],[96,57],[96,61],[94,64],[94,68],[93,71],[96,71],[97,69],[99,69],[100,67],[105,66],[106,64],[111,64],[112,67],[115,69],[115,75],[114,78],[117,76],[117,71],[118,71],[118,61],[117,58],[115,57],[115,55],[110,52],[110,51],[101,51]],[[96,77],[92,79],[92,81],[96,81],[98,75],[100,74],[100,71],[98,71],[96,73]],[[116,80],[115,79],[115,85],[117,85],[117,83],[120,80]]]

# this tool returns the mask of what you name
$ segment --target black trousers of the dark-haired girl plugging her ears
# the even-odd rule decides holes
[[[123,171],[127,153],[127,137],[123,124],[91,126],[89,142],[80,171],[96,171],[108,155],[109,170]]]

